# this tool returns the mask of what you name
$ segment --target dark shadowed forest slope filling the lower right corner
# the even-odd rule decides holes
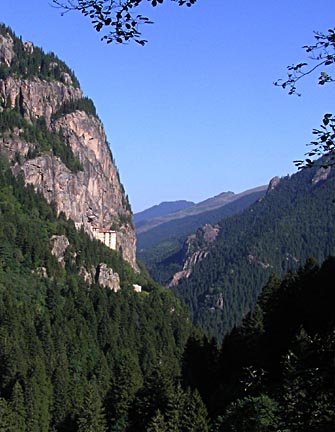
[[[334,277],[334,258],[308,260],[269,280],[221,349],[190,339],[184,379],[206,401],[211,431],[335,429]]]

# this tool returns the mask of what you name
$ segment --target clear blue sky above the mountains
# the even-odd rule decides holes
[[[167,1],[167,0],[165,0]],[[76,73],[102,119],[135,212],[161,201],[241,192],[295,171],[312,129],[334,112],[331,85],[301,98],[273,86],[304,59],[334,0],[198,0],[145,12],[149,40],[105,45],[89,20],[51,0],[1,0],[1,20]]]

